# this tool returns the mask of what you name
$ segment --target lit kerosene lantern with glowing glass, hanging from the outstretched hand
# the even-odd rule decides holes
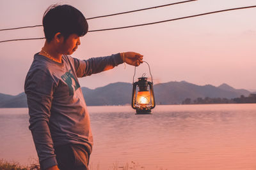
[[[149,68],[149,73],[150,73],[152,82],[147,81],[147,77],[145,77],[146,75],[145,73],[143,73],[142,76],[138,78],[138,81],[134,82],[136,67],[134,68],[134,76],[133,76],[133,82],[132,82],[132,85],[133,85],[132,108],[136,110],[136,115],[152,114],[151,110],[156,106],[154,90],[153,90],[153,78],[150,72],[149,64],[148,64],[148,68]]]

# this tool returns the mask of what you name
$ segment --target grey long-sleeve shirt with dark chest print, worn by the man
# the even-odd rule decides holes
[[[92,152],[90,118],[77,78],[123,63],[120,53],[88,60],[63,55],[61,61],[36,53],[25,80],[29,129],[42,169],[57,165],[54,146],[81,144]]]

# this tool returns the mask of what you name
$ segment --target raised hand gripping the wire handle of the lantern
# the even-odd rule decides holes
[[[132,66],[140,66],[140,64],[143,63],[143,55],[136,52],[121,53],[121,58],[124,62]]]

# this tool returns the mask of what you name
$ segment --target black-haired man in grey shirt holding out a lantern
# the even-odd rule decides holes
[[[43,17],[45,44],[34,56],[25,80],[29,129],[41,169],[88,169],[92,132],[77,78],[126,62],[139,66],[143,55],[124,52],[78,60],[70,57],[88,32],[81,11],[69,5],[50,6]]]

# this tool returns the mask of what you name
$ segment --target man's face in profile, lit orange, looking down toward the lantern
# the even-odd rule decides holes
[[[77,34],[70,34],[66,41],[63,41],[63,44],[61,45],[61,51],[65,55],[71,55],[76,51],[79,45],[81,45],[79,36],[77,36]]]

